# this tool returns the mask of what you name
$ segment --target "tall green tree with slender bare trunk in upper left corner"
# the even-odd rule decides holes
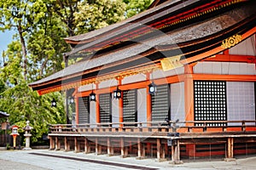
[[[44,16],[42,2],[32,0],[0,0],[0,31],[15,29],[22,49],[23,74],[27,75],[26,37],[32,26]]]

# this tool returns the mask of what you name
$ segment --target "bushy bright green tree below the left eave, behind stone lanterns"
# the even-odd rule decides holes
[[[25,127],[26,121],[34,127],[32,141],[36,142],[48,131],[48,124],[65,123],[66,116],[63,111],[63,98],[60,93],[39,96],[37,92],[28,87],[20,66],[22,55],[20,42],[9,44],[8,64],[0,68],[0,80],[4,90],[1,91],[0,108],[10,114],[9,122]],[[50,101],[58,99],[56,108],[50,106]],[[22,130],[20,129],[20,132]]]

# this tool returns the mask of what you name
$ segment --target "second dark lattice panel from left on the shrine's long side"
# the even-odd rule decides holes
[[[110,94],[100,94],[100,121],[112,122]]]

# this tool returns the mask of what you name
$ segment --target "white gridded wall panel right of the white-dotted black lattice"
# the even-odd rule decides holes
[[[227,82],[227,113],[228,121],[255,120],[254,82]]]

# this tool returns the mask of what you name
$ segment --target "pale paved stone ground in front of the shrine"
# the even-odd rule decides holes
[[[256,170],[256,156],[236,159],[236,161],[184,161],[172,165],[169,161],[158,162],[152,158],[136,160],[135,157],[120,158],[84,153],[64,152],[63,150],[0,150],[0,170]]]

